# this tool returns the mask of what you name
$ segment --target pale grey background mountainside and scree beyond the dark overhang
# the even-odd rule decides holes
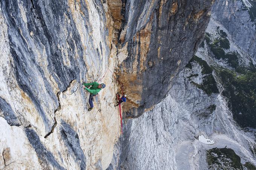
[[[245,2],[216,1],[204,42],[196,56],[175,77],[168,96],[139,118],[125,119],[121,147],[116,146],[113,157],[116,159],[117,153],[121,155],[120,169],[211,169],[207,150],[215,147],[232,149],[241,158],[238,163],[244,169],[256,165],[256,131],[248,126],[241,129],[234,120],[230,98],[224,96],[229,77],[226,81],[221,80],[219,74],[236,72],[235,75],[241,77],[241,71],[250,71],[254,67],[254,23],[248,10],[242,10]],[[244,24],[239,23],[242,21]],[[240,39],[236,26],[247,28],[239,32]],[[253,92],[256,87],[251,84]],[[245,91],[246,88],[239,87]],[[245,101],[240,103],[254,108]],[[255,116],[255,112],[249,116]],[[254,117],[248,119],[254,120]],[[201,143],[199,135],[214,144]],[[230,169],[230,164],[218,163],[223,165],[222,168]]]

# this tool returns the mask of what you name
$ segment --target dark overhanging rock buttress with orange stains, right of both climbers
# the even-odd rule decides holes
[[[211,5],[211,0],[126,1],[120,43],[128,57],[118,73],[123,93],[132,96],[123,107],[126,117],[139,117],[166,97],[172,78],[200,45]]]

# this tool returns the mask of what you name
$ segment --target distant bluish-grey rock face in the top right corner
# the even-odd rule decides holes
[[[238,47],[254,59],[256,59],[256,21],[250,14],[255,11],[255,5],[252,0],[216,0],[212,7],[212,19],[232,33],[233,41]]]

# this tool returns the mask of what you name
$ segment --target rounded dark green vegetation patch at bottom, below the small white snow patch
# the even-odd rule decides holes
[[[209,169],[240,169],[242,170],[241,158],[230,148],[213,148],[207,150],[206,160]]]

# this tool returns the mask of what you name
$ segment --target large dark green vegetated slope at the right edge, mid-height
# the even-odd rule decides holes
[[[242,128],[256,128],[256,72],[253,68],[241,70],[239,75],[224,68],[216,69],[216,73],[225,87],[222,95],[229,99],[233,118]]]

